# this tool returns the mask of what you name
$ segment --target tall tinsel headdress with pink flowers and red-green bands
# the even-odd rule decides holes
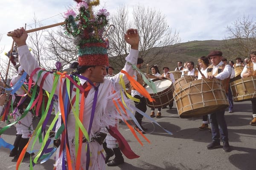
[[[74,38],[78,48],[79,65],[109,65],[108,40],[103,39],[105,27],[108,26],[109,12],[100,9],[96,14],[92,7],[99,5],[99,0],[75,0],[76,14],[72,9],[64,13],[65,33]]]

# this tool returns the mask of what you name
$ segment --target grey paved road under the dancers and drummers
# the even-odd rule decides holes
[[[150,113],[148,108],[147,113]],[[167,134],[160,127],[143,119],[143,126],[149,133],[150,140],[141,146],[126,125],[121,123],[120,132],[125,136],[131,148],[140,155],[138,159],[127,159],[118,167],[107,167],[107,170],[256,170],[256,126],[249,125],[252,119],[251,102],[236,102],[234,113],[226,111],[229,139],[232,151],[225,153],[222,148],[207,150],[211,142],[208,130],[200,131],[201,117],[180,119],[175,109],[163,109],[163,117],[157,122],[173,135]],[[34,125],[38,123],[34,122]],[[0,123],[0,128],[5,124]],[[15,127],[7,130],[3,139],[13,143]],[[39,148],[36,144],[35,148]],[[9,150],[0,148],[0,170],[15,170],[16,163],[9,157]],[[36,164],[34,170],[52,170],[52,156],[44,164]],[[24,160],[20,170],[28,170],[29,160]]]

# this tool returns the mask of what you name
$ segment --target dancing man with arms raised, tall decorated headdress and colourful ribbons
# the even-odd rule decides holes
[[[74,83],[74,85],[71,84],[70,89],[67,89],[66,80],[60,77],[57,82],[57,88],[55,91],[52,91],[53,82],[56,79],[54,76],[56,75],[48,74],[48,72],[39,68],[38,63],[26,45],[28,35],[24,28],[12,31],[12,34],[15,36],[13,39],[18,45],[19,61],[23,69],[35,81],[38,79],[38,85],[43,82],[42,87],[46,91],[58,95],[58,108],[60,110],[58,122],[64,122],[65,128],[60,136],[61,145],[58,147],[58,157],[55,162],[55,169],[57,170],[64,168],[75,169],[75,167],[84,170],[105,170],[105,160],[102,156],[103,148],[99,131],[102,127],[108,127],[109,130],[112,130],[109,132],[113,132],[111,135],[119,134],[118,130],[114,128],[116,120],[128,119],[125,114],[120,113],[121,115],[119,115],[119,113],[116,113],[116,105],[113,103],[114,99],[121,99],[120,93],[122,91],[120,91],[119,80],[120,74],[122,73],[116,74],[113,77],[104,78],[107,74],[106,67],[109,63],[107,54],[108,41],[103,39],[102,32],[104,32],[104,26],[108,24],[108,20],[106,19],[108,12],[105,9],[99,10],[97,16],[92,18],[92,16],[89,16],[93,14],[90,11],[91,8],[88,7],[89,5],[84,1],[79,1],[78,3],[78,8],[81,12],[78,23],[83,27],[76,26],[76,21],[72,17],[74,16],[74,12],[69,11],[65,14],[67,22],[66,31],[75,37],[79,48],[79,65],[77,70],[80,75],[74,75],[78,82]],[[84,18],[87,18],[87,20]],[[70,28],[71,26],[74,28]],[[128,62],[133,65],[137,63],[139,53],[139,35],[137,29],[128,29],[125,34],[125,41],[131,45],[130,54],[126,57],[127,62],[123,68],[124,74],[122,74],[122,78],[126,84],[128,83],[128,78],[125,72],[129,75],[134,74],[134,70]],[[40,76],[38,78],[39,72]],[[32,73],[33,75],[31,75]],[[80,84],[81,86],[79,86]],[[70,90],[70,96],[67,96],[67,93],[65,93],[67,90]],[[78,100],[76,100],[76,94],[79,94]],[[64,105],[62,102],[65,101],[65,98],[69,97],[71,102],[67,102],[67,105]],[[79,108],[77,108],[77,104]],[[131,101],[125,99],[125,104],[129,107]],[[66,106],[67,110],[64,109]],[[79,117],[76,117],[78,113]],[[79,129],[76,126],[79,125],[78,119],[84,130],[87,131],[88,137],[85,136],[84,132],[81,133],[81,128]],[[79,130],[79,136],[76,136],[76,130]],[[122,148],[122,150],[127,149],[127,147]],[[130,159],[138,157],[132,152],[129,152],[128,155]]]

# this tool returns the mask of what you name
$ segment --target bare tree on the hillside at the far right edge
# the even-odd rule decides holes
[[[256,23],[249,16],[238,18],[231,26],[227,26],[224,50],[228,59],[248,57],[256,49]]]

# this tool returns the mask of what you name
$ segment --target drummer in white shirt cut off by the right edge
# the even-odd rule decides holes
[[[252,62],[249,62],[249,64],[245,65],[243,71],[241,72],[242,78],[256,76],[256,51],[253,51],[250,54],[250,60]],[[251,102],[253,109],[253,120],[250,122],[250,125],[256,126],[256,98],[252,98]]]

